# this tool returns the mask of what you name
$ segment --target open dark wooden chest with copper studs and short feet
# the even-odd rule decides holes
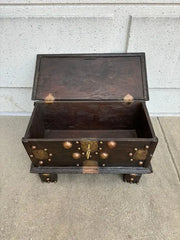
[[[144,53],[38,55],[36,100],[24,147],[31,173],[123,174],[137,183],[152,172],[157,145],[146,108]]]

